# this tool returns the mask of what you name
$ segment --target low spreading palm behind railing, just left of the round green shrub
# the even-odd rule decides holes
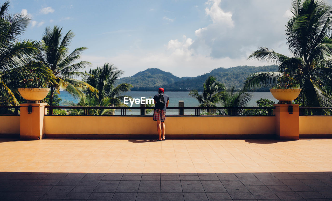
[[[234,90],[234,86],[229,92],[224,92],[220,100],[220,107],[247,107],[252,95],[246,91]],[[242,115],[244,110],[237,110],[236,115]],[[231,115],[231,109],[217,110],[217,115]]]

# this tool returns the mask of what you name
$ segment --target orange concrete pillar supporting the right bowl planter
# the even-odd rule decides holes
[[[299,105],[298,104],[273,104],[276,109],[276,134],[281,140],[299,139]]]

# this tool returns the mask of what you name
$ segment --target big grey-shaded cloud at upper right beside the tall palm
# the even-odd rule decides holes
[[[284,35],[287,19],[280,12],[289,8],[287,2],[252,0],[230,4],[208,0],[205,11],[212,23],[195,31],[197,38],[190,48],[212,58],[231,59],[247,57],[261,46],[288,52]]]

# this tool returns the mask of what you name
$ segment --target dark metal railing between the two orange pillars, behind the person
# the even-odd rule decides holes
[[[92,116],[89,115],[89,110],[95,109],[95,110],[102,110],[102,109],[116,109],[121,110],[120,115],[93,115],[93,116],[126,116],[127,110],[140,110],[140,114],[145,114],[145,110],[148,109],[154,109],[154,107],[79,107],[79,106],[45,106],[46,109],[48,109],[47,115],[50,116],[61,116],[61,115],[54,115],[53,110],[54,109],[78,109],[83,110],[82,115],[83,116]],[[213,111],[213,113],[216,113],[218,110],[227,110],[227,115],[213,115],[213,116],[273,116],[272,110],[275,107],[167,107],[167,110],[179,110],[180,115],[167,115],[167,116],[212,116],[212,115],[201,115],[202,110],[209,110]],[[184,110],[194,110],[194,115],[184,115]],[[247,111],[247,110],[267,110],[266,115],[239,115],[238,111]],[[229,114],[230,113],[230,114]],[[78,116],[78,115],[75,115]],[[141,116],[141,115],[130,115],[130,116]],[[151,116],[151,115],[150,115]]]

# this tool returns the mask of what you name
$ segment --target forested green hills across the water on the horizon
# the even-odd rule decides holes
[[[119,83],[129,83],[134,86],[132,91],[156,90],[164,87],[167,91],[188,91],[192,89],[202,90],[203,83],[208,76],[213,75],[227,88],[235,86],[242,88],[243,82],[249,74],[257,72],[276,72],[277,65],[271,66],[237,66],[232,68],[217,68],[204,75],[196,77],[177,77],[171,73],[157,68],[146,69],[130,77],[123,77]]]

